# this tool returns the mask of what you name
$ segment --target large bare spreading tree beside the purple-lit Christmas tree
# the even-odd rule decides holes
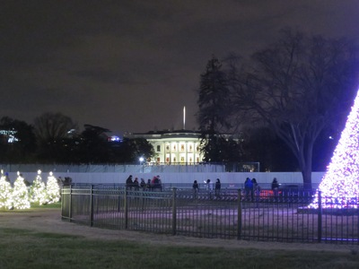
[[[313,145],[347,114],[354,98],[354,44],[282,30],[275,44],[251,60],[250,67],[232,64],[229,72],[236,116],[241,123],[258,121],[274,130],[295,155],[304,186],[311,187]]]

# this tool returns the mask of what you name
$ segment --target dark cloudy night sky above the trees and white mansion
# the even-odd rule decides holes
[[[207,61],[292,27],[359,39],[359,0],[0,0],[0,117],[61,112],[112,134],[197,129]]]

